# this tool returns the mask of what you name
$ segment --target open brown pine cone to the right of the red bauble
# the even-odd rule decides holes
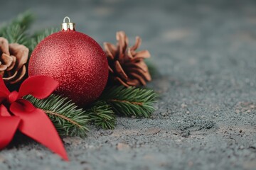
[[[110,81],[118,82],[124,86],[146,85],[151,81],[149,69],[144,62],[150,57],[147,50],[136,52],[142,39],[136,37],[135,45],[128,47],[129,40],[124,31],[117,32],[117,46],[109,42],[104,43],[109,63]]]

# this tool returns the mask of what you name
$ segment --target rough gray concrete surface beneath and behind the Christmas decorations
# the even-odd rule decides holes
[[[255,1],[1,2],[1,22],[31,8],[34,30],[70,16],[100,44],[140,35],[161,94],[151,119],[64,138],[70,162],[28,142],[0,152],[1,170],[256,169]]]

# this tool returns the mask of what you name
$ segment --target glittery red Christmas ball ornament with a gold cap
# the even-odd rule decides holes
[[[85,106],[95,101],[105,89],[108,63],[100,45],[88,35],[75,31],[75,23],[65,23],[62,30],[42,40],[33,50],[28,75],[53,77],[60,85],[56,93]]]

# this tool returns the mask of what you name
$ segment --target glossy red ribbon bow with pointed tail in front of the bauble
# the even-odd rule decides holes
[[[23,81],[18,92],[10,92],[0,77],[0,149],[11,142],[18,129],[68,160],[63,142],[46,113],[22,98],[28,94],[46,98],[57,86],[58,82],[51,77],[36,76]]]

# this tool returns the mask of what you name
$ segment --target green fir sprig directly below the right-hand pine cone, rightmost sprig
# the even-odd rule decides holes
[[[157,96],[150,89],[115,86],[105,89],[101,99],[109,103],[115,113],[149,118],[155,111],[154,103]]]

